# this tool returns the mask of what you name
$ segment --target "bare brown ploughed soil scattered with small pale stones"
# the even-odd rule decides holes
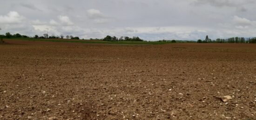
[[[256,119],[256,44],[5,41],[0,120]]]

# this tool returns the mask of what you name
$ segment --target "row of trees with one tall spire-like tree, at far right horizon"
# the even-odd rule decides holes
[[[256,38],[239,38],[239,37],[233,37],[233,38],[227,38],[227,39],[220,39],[217,38],[216,40],[211,40],[206,36],[205,40],[197,40],[197,43],[256,43]]]

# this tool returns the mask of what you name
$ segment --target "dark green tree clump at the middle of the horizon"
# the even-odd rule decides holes
[[[115,36],[114,37],[111,37],[111,36],[106,36],[105,38],[103,38],[102,40],[105,40],[105,41],[144,41],[143,39],[139,38],[139,37],[133,37],[133,38],[129,38],[129,37],[120,37],[120,38],[116,38]]]

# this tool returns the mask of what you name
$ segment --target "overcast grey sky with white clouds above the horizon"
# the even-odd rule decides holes
[[[0,34],[256,37],[256,0],[0,0]]]

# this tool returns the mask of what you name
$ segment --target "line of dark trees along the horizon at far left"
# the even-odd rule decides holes
[[[41,38],[41,39],[44,39],[44,38],[52,38],[52,39],[63,39],[64,36],[61,35],[61,36],[55,36],[55,35],[52,35],[52,36],[49,36],[47,33],[46,34],[43,34],[43,36],[38,36],[38,35],[35,35],[34,37],[28,37],[26,35],[20,35],[19,33],[17,34],[11,34],[10,32],[7,32],[5,35],[0,35],[0,38]],[[80,39],[79,37],[73,37],[72,35],[70,36],[66,36],[67,39]]]

